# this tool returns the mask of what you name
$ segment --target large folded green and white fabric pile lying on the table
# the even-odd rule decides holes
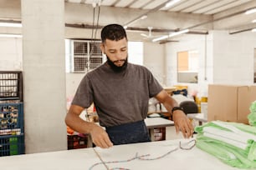
[[[207,122],[195,128],[197,148],[236,168],[256,168],[256,127],[238,122]]]

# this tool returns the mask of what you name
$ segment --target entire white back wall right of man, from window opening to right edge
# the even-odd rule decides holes
[[[229,34],[228,31],[210,31],[208,35],[183,35],[179,42],[166,43],[167,85],[187,85],[189,92],[207,95],[207,85],[253,84],[253,61],[256,37],[253,32]],[[177,52],[199,52],[198,83],[177,82]]]

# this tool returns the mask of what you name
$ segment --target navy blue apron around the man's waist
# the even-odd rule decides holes
[[[105,129],[114,145],[151,142],[144,120]]]

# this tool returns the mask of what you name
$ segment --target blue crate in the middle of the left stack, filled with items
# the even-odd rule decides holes
[[[23,133],[23,102],[0,103],[0,135],[9,130]]]

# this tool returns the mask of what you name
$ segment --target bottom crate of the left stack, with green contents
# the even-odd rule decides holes
[[[24,136],[0,136],[0,157],[25,153]]]

